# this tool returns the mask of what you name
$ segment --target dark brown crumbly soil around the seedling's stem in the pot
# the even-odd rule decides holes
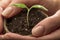
[[[46,18],[39,9],[32,9],[29,14],[29,27],[27,26],[27,10],[21,11],[21,13],[16,16],[6,19],[7,28],[10,32],[18,33],[21,35],[30,35],[32,28],[40,22],[42,19]]]

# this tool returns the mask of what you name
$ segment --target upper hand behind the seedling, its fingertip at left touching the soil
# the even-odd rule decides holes
[[[43,5],[48,8],[48,15],[53,15],[53,13],[60,9],[60,0],[1,0],[0,7],[4,9],[2,15],[6,18],[10,18],[19,13],[22,9],[12,6],[12,4],[16,3],[24,3],[28,7],[35,4]]]

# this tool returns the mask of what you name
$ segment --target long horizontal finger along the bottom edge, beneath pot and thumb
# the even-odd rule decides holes
[[[19,39],[19,40],[59,40],[60,39],[60,29],[52,32],[49,35],[45,35],[42,37],[31,37],[31,36],[22,36],[15,33],[6,33],[5,35],[0,35],[1,39]]]

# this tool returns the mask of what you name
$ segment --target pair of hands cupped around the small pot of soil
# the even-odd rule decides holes
[[[3,17],[10,18],[22,10],[20,8],[11,6],[12,4],[24,3],[28,7],[34,4],[42,4],[49,9],[49,13],[54,13],[55,10],[57,10],[57,8],[54,8],[55,6],[53,6],[51,2],[53,2],[53,4],[56,4],[55,2],[60,3],[60,1],[58,0],[55,0],[55,1],[53,0],[50,0],[50,1],[48,0],[32,0],[32,1],[31,0],[29,1],[28,0],[24,0],[24,1],[23,0],[1,0],[0,1],[0,32],[3,29]],[[51,15],[51,14],[48,14],[48,15]],[[0,35],[0,39],[21,39],[21,40],[59,39],[60,38],[60,10],[58,10],[54,15],[48,18],[45,18],[44,20],[39,22],[32,29],[32,35],[33,36],[22,36],[15,33],[6,33],[4,35]]]

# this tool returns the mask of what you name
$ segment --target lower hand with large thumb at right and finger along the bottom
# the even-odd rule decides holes
[[[33,36],[22,36],[15,33],[6,33],[0,35],[0,39],[20,39],[20,40],[49,40],[60,39],[60,10],[53,16],[50,16],[39,22],[32,29]],[[35,36],[35,37],[34,37]]]

